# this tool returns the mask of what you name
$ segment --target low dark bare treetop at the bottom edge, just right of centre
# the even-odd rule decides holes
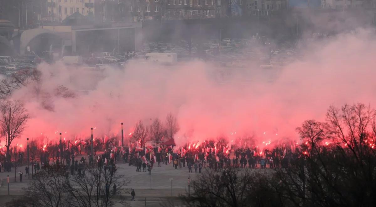
[[[180,199],[183,205],[192,207],[286,206],[275,186],[272,175],[254,170],[206,170],[192,181],[190,195],[186,193]],[[177,204],[167,201],[162,206]]]

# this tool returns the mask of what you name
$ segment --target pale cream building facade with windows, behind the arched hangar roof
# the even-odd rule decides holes
[[[62,21],[75,12],[94,16],[94,0],[47,0],[47,12],[52,21]]]

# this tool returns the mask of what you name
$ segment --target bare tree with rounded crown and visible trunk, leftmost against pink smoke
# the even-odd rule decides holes
[[[28,119],[29,114],[21,102],[3,100],[0,103],[0,130],[6,141],[7,153],[12,141],[26,129]]]

